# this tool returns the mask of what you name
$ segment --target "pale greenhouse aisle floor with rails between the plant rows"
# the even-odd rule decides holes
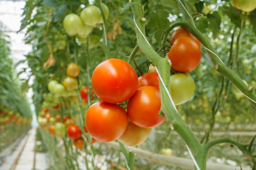
[[[15,147],[15,150],[10,155],[7,153],[13,149],[13,145],[1,153],[8,155],[0,166],[1,170],[32,170],[33,168],[36,170],[45,170],[48,168],[46,154],[34,153],[35,134],[36,128],[32,128],[21,141],[18,139],[19,141],[17,142],[19,145]]]

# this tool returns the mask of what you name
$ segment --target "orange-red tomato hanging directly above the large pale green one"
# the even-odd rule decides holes
[[[175,71],[187,73],[198,66],[201,59],[201,49],[190,37],[180,37],[173,42],[167,56]]]

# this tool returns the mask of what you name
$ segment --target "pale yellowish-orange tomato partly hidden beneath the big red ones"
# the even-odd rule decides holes
[[[143,128],[129,121],[125,133],[118,139],[121,143],[135,146],[143,143],[148,138],[151,128]]]

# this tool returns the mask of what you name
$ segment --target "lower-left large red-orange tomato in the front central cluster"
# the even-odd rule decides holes
[[[128,117],[119,105],[98,101],[89,107],[85,124],[92,137],[101,142],[110,142],[124,134]]]

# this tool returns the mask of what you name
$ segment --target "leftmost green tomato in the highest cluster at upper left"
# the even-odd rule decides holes
[[[68,14],[63,20],[63,26],[69,36],[76,35],[83,28],[81,18],[76,14]]]

